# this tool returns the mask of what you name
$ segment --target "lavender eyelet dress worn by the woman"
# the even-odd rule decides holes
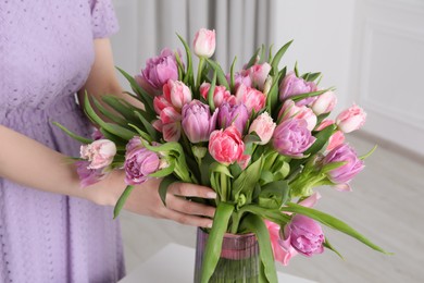
[[[110,0],[0,0],[0,123],[77,156],[78,142],[51,122],[90,134],[74,95],[92,65],[93,38],[117,28]],[[0,282],[119,281],[123,248],[112,218],[110,207],[0,179]]]

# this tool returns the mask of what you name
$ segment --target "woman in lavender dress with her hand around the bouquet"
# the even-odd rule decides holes
[[[74,94],[121,95],[108,37],[117,30],[110,0],[0,3],[0,282],[116,282],[124,274],[112,206],[125,184],[113,172],[79,187],[79,135],[92,127]],[[159,198],[151,180],[126,202],[129,211],[210,226],[214,209],[179,196],[212,189],[175,184]],[[209,218],[204,218],[209,217]]]

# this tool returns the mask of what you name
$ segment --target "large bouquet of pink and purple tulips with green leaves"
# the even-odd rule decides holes
[[[192,44],[199,58],[195,72],[190,47],[179,39],[184,56],[164,49],[134,77],[120,70],[134,91],[127,94],[144,109],[109,96],[103,103],[112,113],[86,97],[85,112],[99,126],[98,137],[78,137],[60,125],[85,144],[77,161],[82,185],[124,170],[127,188],[115,216],[134,185],[148,179],[162,179],[164,204],[173,182],[212,187],[215,200],[198,200],[216,206],[202,282],[215,269],[226,232],[257,235],[263,282],[276,282],[274,260],[287,264],[296,254],[335,250],[319,223],[385,253],[348,224],[311,208],[320,197],[315,187],[349,190],[364,168],[367,155],[358,157],[345,143],[345,134],[363,125],[364,111],[353,104],[328,119],[336,96],[319,86],[321,73],[279,67],[291,41],[275,54],[262,46],[242,70],[235,70],[234,60],[224,72],[211,59],[215,32],[202,28]]]

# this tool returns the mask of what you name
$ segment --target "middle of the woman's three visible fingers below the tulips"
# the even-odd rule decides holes
[[[203,204],[186,200],[182,197],[170,195],[166,197],[169,209],[183,212],[185,214],[202,216],[213,218],[215,208]]]

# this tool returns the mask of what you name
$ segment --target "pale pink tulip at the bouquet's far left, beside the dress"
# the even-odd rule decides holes
[[[116,146],[109,139],[98,139],[80,147],[80,157],[90,161],[88,169],[110,165],[116,155]]]

